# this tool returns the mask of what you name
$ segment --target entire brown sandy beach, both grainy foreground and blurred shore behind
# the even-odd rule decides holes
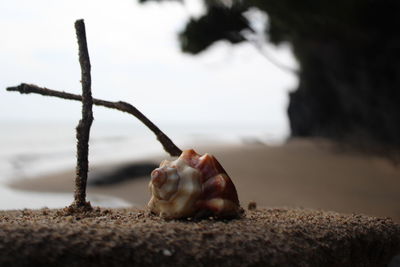
[[[323,139],[183,148],[216,156],[236,185],[243,207],[238,218],[165,220],[151,214],[146,209],[149,172],[169,158],[166,153],[93,164],[88,199],[109,197],[128,207],[93,202],[94,209],[87,211],[1,211],[1,264],[398,265],[400,166],[390,159]],[[7,186],[20,193],[72,197],[73,181],[70,168],[9,180]]]

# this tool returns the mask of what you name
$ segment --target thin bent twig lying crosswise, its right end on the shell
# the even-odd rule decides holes
[[[21,94],[33,93],[43,96],[53,96],[68,100],[82,101],[82,96],[80,95],[42,88],[33,84],[22,83],[15,87],[8,87],[6,90],[10,92],[11,91],[19,92]],[[97,106],[116,109],[133,115],[138,120],[140,120],[144,125],[146,125],[147,128],[149,128],[156,135],[157,140],[161,143],[164,150],[168,154],[170,154],[172,157],[177,157],[182,153],[182,150],[179,149],[166,134],[164,134],[153,122],[151,122],[145,115],[143,115],[143,113],[141,113],[137,108],[135,108],[131,104],[122,101],[110,102],[96,98],[93,98],[93,104]]]

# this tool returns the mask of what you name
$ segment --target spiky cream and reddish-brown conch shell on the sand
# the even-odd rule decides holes
[[[240,205],[235,185],[214,156],[185,150],[151,173],[150,210],[164,218],[235,217]]]

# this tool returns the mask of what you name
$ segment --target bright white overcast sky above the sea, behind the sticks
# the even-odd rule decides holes
[[[80,105],[22,96],[21,82],[80,93],[74,21],[86,23],[93,96],[130,102],[156,123],[259,123],[288,128],[294,75],[249,44],[220,42],[200,56],[180,52],[177,33],[196,0],[139,5],[136,0],[1,0],[0,120],[77,120]],[[287,47],[266,47],[294,66]],[[102,121],[131,120],[103,108]]]

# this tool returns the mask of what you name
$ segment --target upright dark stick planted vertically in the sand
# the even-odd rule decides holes
[[[89,169],[88,154],[90,127],[93,122],[93,99],[91,92],[89,52],[86,42],[85,23],[82,19],[75,22],[75,31],[78,38],[79,63],[81,65],[82,119],[76,127],[77,165],[74,203],[72,203],[72,206],[76,208],[90,209],[90,203],[86,202],[86,183]]]

